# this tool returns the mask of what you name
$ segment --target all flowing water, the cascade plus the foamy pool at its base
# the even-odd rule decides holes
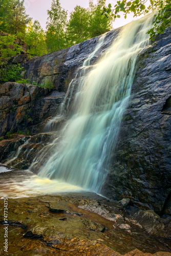
[[[81,190],[100,194],[129,103],[137,57],[149,44],[146,31],[152,20],[153,15],[148,15],[124,26],[112,47],[92,66],[92,58],[99,54],[106,34],[100,37],[94,52],[70,83],[59,115],[46,125],[46,132],[53,131],[55,139],[37,153],[30,170],[0,166],[2,196],[16,198]],[[56,123],[61,121],[61,130],[56,129]],[[6,164],[17,159],[23,146]],[[33,174],[35,168],[39,169],[38,176]]]

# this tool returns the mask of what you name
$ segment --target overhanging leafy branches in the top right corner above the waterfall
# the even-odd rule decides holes
[[[108,16],[111,12],[114,20],[119,18],[119,12],[124,13],[124,17],[126,18],[126,14],[133,12],[134,16],[139,16],[141,14],[146,14],[148,12],[157,11],[154,15],[154,27],[148,30],[148,34],[150,35],[150,39],[155,40],[155,36],[157,33],[163,33],[164,30],[170,26],[171,24],[171,3],[170,0],[150,0],[150,5],[148,7],[145,6],[147,0],[122,0],[117,1],[117,4],[112,9],[112,5],[109,4],[108,7],[103,7],[103,12],[105,16]]]

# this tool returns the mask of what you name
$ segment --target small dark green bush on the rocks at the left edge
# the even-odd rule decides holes
[[[22,72],[23,67],[20,67],[20,64],[16,65],[6,65],[4,68],[0,70],[0,80],[7,82],[15,82],[19,80],[22,76],[20,73]]]

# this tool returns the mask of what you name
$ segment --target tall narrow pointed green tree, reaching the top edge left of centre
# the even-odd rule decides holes
[[[52,0],[48,10],[47,47],[50,52],[66,47],[67,11],[61,8],[59,0]]]

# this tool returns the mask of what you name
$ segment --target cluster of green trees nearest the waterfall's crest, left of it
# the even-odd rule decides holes
[[[67,26],[68,46],[101,35],[112,28],[112,15],[108,18],[101,15],[104,4],[105,0],[98,0],[95,5],[91,0],[87,9],[81,6],[74,8]]]

